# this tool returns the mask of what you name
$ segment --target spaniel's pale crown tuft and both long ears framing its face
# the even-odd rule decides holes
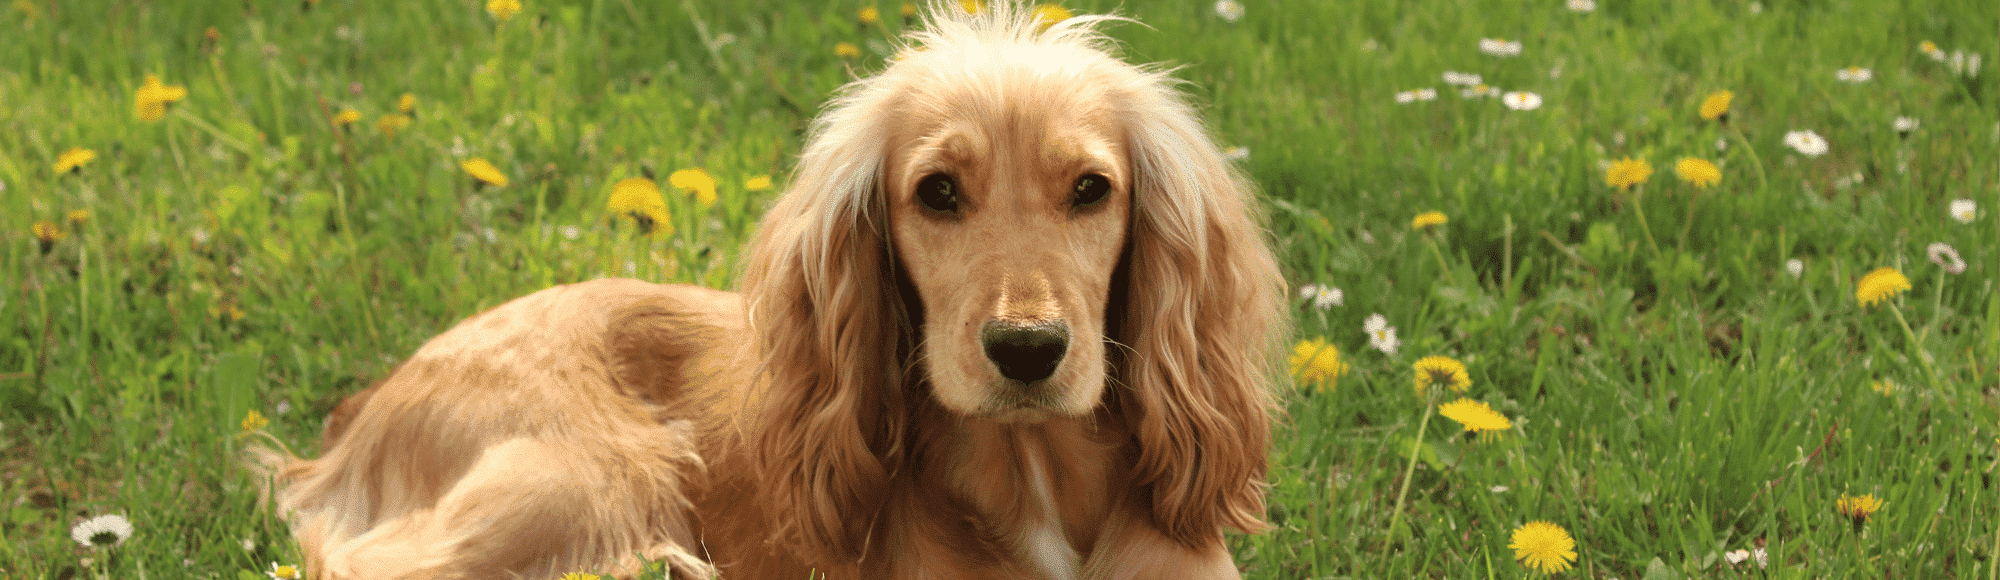
[[[1168,70],[1112,54],[1096,26],[1114,20],[1124,18],[1044,28],[1018,2],[974,14],[932,2],[898,58],[844,86],[812,122],[742,278],[764,360],[748,452],[776,540],[828,562],[866,552],[910,422],[928,404],[910,372],[918,338],[888,242],[882,180],[896,104],[912,78],[980,82],[980,66],[998,60],[1094,68],[1072,76],[1102,84],[1126,122],[1134,204],[1124,288],[1112,290],[1108,312],[1108,338],[1124,346],[1112,354],[1108,396],[1134,430],[1134,476],[1156,524],[1190,548],[1216,546],[1224,526],[1264,526],[1284,280],[1248,182]]]

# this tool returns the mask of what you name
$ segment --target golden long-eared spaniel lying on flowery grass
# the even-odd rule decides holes
[[[932,6],[808,128],[742,294],[542,290],[254,450],[316,578],[1240,578],[1284,280],[1166,68]],[[818,574],[818,576],[814,576]]]

